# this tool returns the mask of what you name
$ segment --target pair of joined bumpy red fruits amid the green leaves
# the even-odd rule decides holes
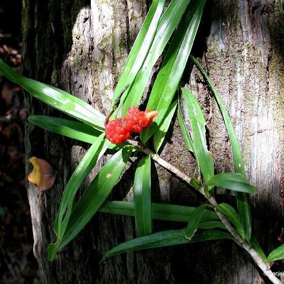
[[[158,112],[139,111],[137,107],[131,107],[125,118],[117,118],[109,121],[105,126],[105,135],[113,144],[120,144],[127,140],[132,132],[139,133],[152,124]]]

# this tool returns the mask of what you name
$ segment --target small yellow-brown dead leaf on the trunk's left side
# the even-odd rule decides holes
[[[37,157],[31,157],[29,161],[33,165],[33,169],[27,179],[32,184],[35,184],[40,191],[50,189],[56,177],[56,172],[52,166],[46,160]]]

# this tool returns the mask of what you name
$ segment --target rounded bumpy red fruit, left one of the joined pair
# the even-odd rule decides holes
[[[131,127],[124,118],[117,118],[109,121],[105,126],[105,136],[113,144],[120,144],[127,140],[131,134]]]

